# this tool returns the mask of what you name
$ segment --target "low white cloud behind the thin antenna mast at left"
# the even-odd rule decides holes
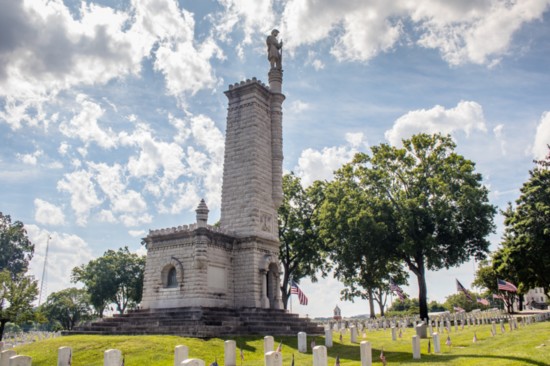
[[[29,272],[39,281],[42,281],[46,245],[49,246],[42,302],[52,292],[75,286],[70,282],[72,269],[88,263],[93,258],[86,241],[77,235],[47,231],[36,225],[25,225],[25,228],[29,239],[35,245]]]

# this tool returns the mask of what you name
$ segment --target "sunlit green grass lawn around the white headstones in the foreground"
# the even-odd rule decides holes
[[[380,350],[384,349],[388,365],[550,365],[550,322],[520,326],[510,332],[501,333],[497,324],[497,334],[491,336],[490,325],[470,326],[464,330],[450,333],[451,346],[445,345],[447,334],[441,335],[441,353],[428,354],[428,339],[421,340],[422,358],[412,359],[412,340],[415,335],[412,328],[403,332],[397,341],[391,340],[391,331],[367,332],[366,338],[372,345],[374,365],[381,365]],[[477,342],[473,342],[474,332]],[[220,366],[224,362],[224,341],[233,339],[237,348],[242,348],[242,365],[263,366],[263,337],[212,338],[209,340],[176,336],[65,336],[47,339],[36,343],[18,346],[18,354],[31,356],[33,366],[53,366],[57,364],[57,349],[72,347],[73,366],[103,365],[103,352],[116,348],[122,351],[126,366],[173,366],[174,347],[183,344],[189,347],[190,358],[200,358],[210,365],[217,360]],[[283,343],[283,365],[290,365],[294,355],[295,365],[312,365],[310,344],[315,339],[317,345],[324,345],[324,337],[308,337],[308,353],[298,353],[297,337],[276,337],[275,348]],[[328,365],[340,357],[341,365],[360,365],[359,344],[350,343],[347,332],[343,341],[339,333],[333,333],[334,346],[328,349]],[[237,350],[237,365],[241,365]]]

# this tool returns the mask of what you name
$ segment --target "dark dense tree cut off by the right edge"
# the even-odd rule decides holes
[[[542,287],[550,296],[550,154],[538,161],[516,206],[503,212],[505,234],[494,265],[513,272],[518,287]]]

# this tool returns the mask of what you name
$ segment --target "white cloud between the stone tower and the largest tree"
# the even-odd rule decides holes
[[[353,159],[360,147],[367,146],[362,133],[347,133],[346,145],[324,147],[322,150],[306,149],[294,168],[305,186],[315,180],[331,180],[335,170]]]

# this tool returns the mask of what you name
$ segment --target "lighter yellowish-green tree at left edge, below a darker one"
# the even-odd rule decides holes
[[[14,276],[8,269],[0,272],[0,341],[6,323],[33,319],[32,302],[38,295],[38,284],[30,276]]]

